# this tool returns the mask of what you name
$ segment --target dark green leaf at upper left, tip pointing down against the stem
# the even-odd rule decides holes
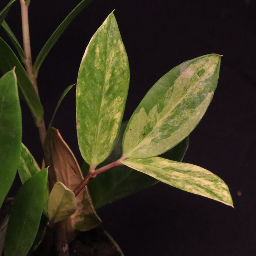
[[[43,118],[43,106],[38,98],[36,90],[28,78],[25,69],[12,49],[2,38],[0,38],[0,59],[0,72],[3,74],[16,66],[15,72],[17,75],[18,86],[20,87],[27,105],[38,125]]]

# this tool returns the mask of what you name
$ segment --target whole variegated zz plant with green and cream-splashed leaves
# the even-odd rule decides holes
[[[180,162],[188,146],[188,135],[212,100],[220,55],[204,55],[171,69],[148,91],[128,123],[122,123],[130,72],[112,12],[92,36],[78,73],[77,135],[85,160],[81,171],[69,146],[52,127],[58,106],[72,86],[60,98],[46,132],[36,77],[54,43],[89,1],[81,1],[66,17],[34,65],[29,61],[30,43],[26,34],[30,1],[20,0],[24,50],[5,22],[14,1],[0,12],[0,24],[18,53],[17,57],[0,38],[2,209],[16,170],[23,185],[2,215],[0,255],[30,254],[42,240],[47,225],[62,234],[62,238],[57,235],[57,244],[67,245],[74,239],[74,230],[90,230],[101,223],[95,209],[158,181],[233,206],[223,180],[202,167]],[[42,169],[22,144],[18,94],[25,99],[39,128],[44,151]],[[60,255],[68,255],[68,251],[63,254],[61,250]]]

